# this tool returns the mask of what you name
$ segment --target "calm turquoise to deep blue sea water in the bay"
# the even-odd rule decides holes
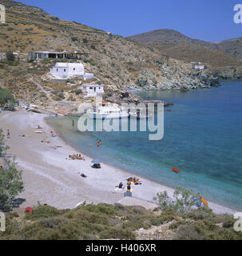
[[[149,141],[149,132],[81,133],[72,127],[69,117],[49,118],[48,122],[66,141],[93,158],[167,186],[184,186],[241,211],[242,82],[226,81],[206,90],[138,94],[175,103],[165,108],[161,142]],[[77,124],[77,118],[75,121]],[[99,148],[97,140],[102,142]],[[181,173],[173,173],[172,167]]]

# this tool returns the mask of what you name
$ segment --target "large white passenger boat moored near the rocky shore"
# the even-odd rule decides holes
[[[128,118],[127,111],[121,111],[117,106],[99,106],[96,111],[88,110],[86,112],[90,119],[114,119],[114,118]]]

